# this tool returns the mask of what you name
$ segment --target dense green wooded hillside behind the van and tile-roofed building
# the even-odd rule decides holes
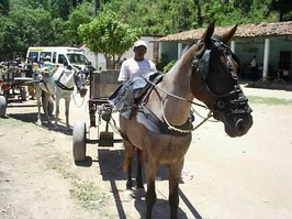
[[[291,0],[0,0],[0,56],[24,54],[31,45],[80,45],[78,26],[90,23],[96,12],[99,17],[108,11],[116,14],[116,22],[93,46],[94,51],[106,51],[108,56],[119,56],[130,47],[124,46],[128,43],[124,34],[132,35],[132,31],[123,29],[166,35],[205,26],[213,20],[223,26],[292,20]],[[110,33],[116,34],[114,45],[121,37],[115,48],[104,46]],[[92,42],[97,41],[94,34],[92,37]],[[102,50],[98,50],[101,45]]]

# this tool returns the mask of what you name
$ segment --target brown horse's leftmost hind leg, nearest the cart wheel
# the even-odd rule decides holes
[[[131,190],[133,187],[132,160],[133,160],[134,146],[126,140],[124,140],[123,142],[125,147],[123,169],[125,173],[127,173],[126,189]]]

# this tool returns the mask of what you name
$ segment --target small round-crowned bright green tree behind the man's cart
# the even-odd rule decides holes
[[[86,46],[94,53],[102,53],[108,68],[115,64],[138,37],[138,30],[132,29],[113,11],[102,11],[88,24],[81,24],[78,33]]]

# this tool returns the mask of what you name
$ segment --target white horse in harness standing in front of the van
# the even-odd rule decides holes
[[[59,116],[59,100],[65,99],[65,116],[66,127],[69,128],[69,106],[71,95],[75,86],[77,87],[80,97],[85,97],[87,94],[86,88],[86,75],[83,72],[78,70],[75,67],[52,67],[47,69],[40,69],[35,76],[35,95],[37,100],[37,122],[41,123],[41,97],[43,99],[43,109],[46,116],[48,124],[52,124],[48,113],[48,100],[50,97],[55,99],[55,128],[58,128]]]

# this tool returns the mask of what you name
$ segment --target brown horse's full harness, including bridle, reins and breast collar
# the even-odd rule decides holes
[[[203,107],[206,109],[207,107],[204,105],[194,102],[192,100],[188,100],[182,97],[176,96],[173,94],[168,92],[167,90],[164,90],[162,88],[159,88],[157,85],[162,80],[162,78],[159,80],[153,81],[153,80],[149,80],[148,77],[144,77],[144,76],[142,77],[147,81],[148,85],[150,85],[150,87],[147,88],[146,94],[143,95],[143,98],[139,99],[137,105],[123,108],[120,111],[121,114],[123,116],[123,112],[124,112],[124,117],[126,119],[130,119],[133,113],[136,113],[137,121],[144,124],[148,130],[153,132],[184,136],[184,135],[190,134],[193,130],[198,129],[205,121],[207,121],[213,116],[212,114],[213,111],[225,110],[225,111],[228,111],[228,113],[231,114],[250,113],[251,109],[247,105],[248,99],[245,97],[240,86],[237,83],[237,79],[238,79],[237,75],[233,72],[232,63],[228,58],[228,56],[232,55],[234,59],[237,59],[235,54],[233,54],[231,48],[227,45],[225,45],[222,41],[212,37],[211,42],[212,42],[211,46],[207,47],[201,55],[196,56],[193,59],[192,70],[191,70],[191,74],[193,74],[194,72],[199,73],[200,77],[202,78],[202,81],[204,83],[206,90],[210,92],[210,95],[212,96],[214,100],[214,105],[212,109],[210,109],[211,110],[210,113],[207,114],[206,118],[203,119],[201,123],[199,123],[196,127],[192,125],[192,118],[193,118],[192,112],[190,112],[190,118],[186,121],[186,123],[180,127],[171,125],[167,121],[167,118],[165,117],[164,111],[162,111],[164,121],[157,118],[155,113],[151,112],[145,105],[149,94],[155,88],[161,90],[162,92],[173,98],[177,98],[182,101],[187,101],[191,105],[195,105],[195,106]],[[231,79],[234,86],[234,89],[231,92],[225,94],[225,95],[220,95],[220,96],[214,94],[207,84],[207,78],[210,76],[210,73],[209,73],[210,56],[211,56],[212,51],[214,50],[223,51],[224,55],[227,57],[227,67],[228,67]],[[122,91],[122,96],[125,95],[124,92]],[[120,100],[121,96],[117,99]],[[161,101],[161,110],[162,110],[162,105],[164,105],[164,101]],[[121,134],[122,136],[124,135],[123,133]]]

